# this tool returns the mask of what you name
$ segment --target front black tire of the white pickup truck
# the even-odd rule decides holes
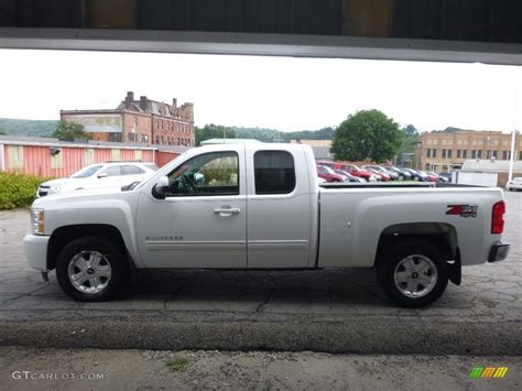
[[[73,271],[78,271],[78,274],[83,271],[75,267],[75,262],[90,262],[90,257],[97,257],[100,259],[97,268],[87,268],[83,274],[88,276],[88,281],[84,285],[76,287],[69,279],[69,263]],[[86,257],[89,257],[87,259]],[[75,261],[76,260],[76,261]],[[79,261],[78,261],[79,260]],[[93,258],[94,260],[94,258]],[[87,265],[90,263],[87,263]],[[107,268],[108,265],[108,268]],[[97,273],[109,273],[109,276],[100,276]],[[98,280],[91,280],[98,278]],[[81,237],[70,241],[66,245],[58,254],[56,260],[56,278],[59,286],[64,292],[72,298],[79,302],[104,302],[111,298],[118,289],[128,280],[128,264],[123,250],[110,242],[107,239],[99,237]],[[91,285],[90,281],[99,281],[99,285]],[[79,279],[78,279],[79,282]],[[93,286],[93,287],[89,287]],[[95,290],[88,292],[89,289]],[[99,289],[99,291],[97,291]]]

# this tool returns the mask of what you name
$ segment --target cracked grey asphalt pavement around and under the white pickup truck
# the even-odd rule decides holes
[[[389,304],[370,270],[148,272],[75,303],[26,264],[29,213],[0,211],[0,345],[520,356],[522,193],[505,197],[509,259],[465,268],[423,309]]]

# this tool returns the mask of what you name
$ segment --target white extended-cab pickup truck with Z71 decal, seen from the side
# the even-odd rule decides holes
[[[433,303],[461,265],[503,260],[502,191],[318,185],[306,145],[195,148],[144,182],[39,198],[30,264],[78,301],[138,269],[374,268],[396,304]]]

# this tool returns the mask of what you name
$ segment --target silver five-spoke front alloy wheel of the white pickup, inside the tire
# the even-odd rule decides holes
[[[111,268],[101,252],[87,250],[78,252],[70,259],[67,275],[78,291],[99,293],[109,284]]]

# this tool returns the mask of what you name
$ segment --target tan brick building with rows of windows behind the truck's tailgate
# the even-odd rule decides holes
[[[522,160],[522,138],[515,134],[514,160]],[[450,171],[466,160],[511,159],[511,133],[500,131],[456,131],[423,133],[416,150],[421,170]]]

